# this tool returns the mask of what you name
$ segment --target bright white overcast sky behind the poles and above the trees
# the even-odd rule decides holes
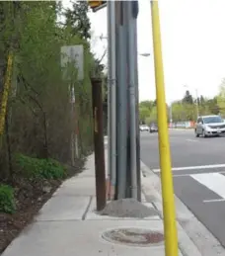
[[[63,1],[64,2],[64,1]],[[186,90],[213,97],[225,77],[225,0],[159,0],[167,102]],[[92,49],[107,48],[107,9],[89,15]],[[139,100],[155,99],[154,59],[149,0],[139,0],[137,20]],[[149,57],[140,53],[148,52]],[[104,59],[107,63],[107,57]]]

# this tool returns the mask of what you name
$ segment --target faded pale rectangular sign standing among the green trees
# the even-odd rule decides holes
[[[65,67],[70,62],[75,62],[77,68],[78,80],[84,79],[84,47],[79,45],[63,45],[61,46],[61,67]]]

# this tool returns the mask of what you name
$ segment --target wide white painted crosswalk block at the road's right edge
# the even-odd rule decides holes
[[[225,199],[225,176],[220,173],[197,173],[191,174],[195,181],[205,186],[215,194]]]

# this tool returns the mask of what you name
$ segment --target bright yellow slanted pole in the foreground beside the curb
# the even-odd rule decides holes
[[[171,152],[168,134],[158,0],[151,1],[151,13],[155,61],[157,117],[159,126],[159,154],[164,213],[165,254],[166,256],[178,256],[178,231],[174,201],[173,177],[171,170]]]

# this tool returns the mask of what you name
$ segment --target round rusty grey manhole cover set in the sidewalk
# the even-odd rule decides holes
[[[144,228],[117,228],[103,233],[102,237],[109,241],[131,246],[162,245],[164,235],[161,232]]]

